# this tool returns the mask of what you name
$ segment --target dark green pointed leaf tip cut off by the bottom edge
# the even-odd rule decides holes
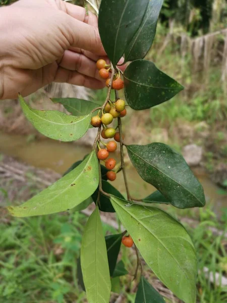
[[[163,297],[142,276],[138,285],[135,303],[165,303]]]

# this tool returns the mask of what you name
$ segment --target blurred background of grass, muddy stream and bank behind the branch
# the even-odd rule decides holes
[[[14,1],[0,0],[0,5]],[[84,1],[75,1],[84,5]],[[146,56],[185,86],[170,101],[150,110],[128,110],[125,141],[163,142],[183,154],[202,183],[203,209],[164,209],[189,231],[197,250],[197,302],[227,302],[227,3],[224,0],[165,0],[152,48]],[[91,91],[51,84],[26,98],[31,107],[58,109],[49,97],[104,100],[106,88]],[[123,97],[123,93],[122,93]],[[86,302],[78,283],[77,259],[87,215],[73,211],[35,218],[12,218],[8,205],[21,204],[89,153],[95,130],[77,142],[64,143],[39,134],[24,117],[18,100],[0,102],[0,302]],[[116,158],[119,155],[116,154]],[[127,159],[132,195],[142,198],[154,188]],[[123,176],[113,184],[124,194]],[[115,215],[102,213],[103,227],[117,233]],[[133,249],[122,249],[133,273]],[[166,302],[181,302],[145,267],[146,276]],[[138,279],[123,276],[111,302],[134,302]]]

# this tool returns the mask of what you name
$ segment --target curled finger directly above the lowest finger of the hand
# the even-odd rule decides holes
[[[77,71],[85,76],[100,80],[96,67],[96,62],[90,60],[83,54],[65,51],[64,56],[61,62],[59,63],[59,66],[63,67],[64,69]]]

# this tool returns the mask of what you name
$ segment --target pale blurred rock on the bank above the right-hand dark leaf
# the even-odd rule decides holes
[[[196,144],[186,145],[183,147],[183,156],[189,166],[196,166],[202,160],[202,147]]]

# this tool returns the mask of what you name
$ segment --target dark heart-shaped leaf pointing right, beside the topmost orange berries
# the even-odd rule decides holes
[[[153,62],[136,60],[124,72],[125,97],[134,110],[145,110],[171,99],[184,87]]]

